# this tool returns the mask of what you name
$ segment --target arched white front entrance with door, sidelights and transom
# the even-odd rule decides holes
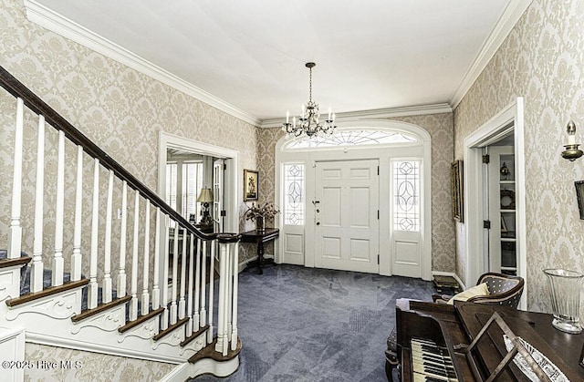
[[[431,139],[359,120],[276,144],[277,263],[432,278]]]

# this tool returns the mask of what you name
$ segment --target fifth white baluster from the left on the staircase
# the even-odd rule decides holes
[[[98,306],[99,160],[93,165],[93,206],[91,209],[91,253],[89,260],[88,308]]]

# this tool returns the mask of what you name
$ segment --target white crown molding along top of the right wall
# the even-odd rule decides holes
[[[454,92],[450,99],[452,108],[456,108],[463,100],[466,92],[473,86],[474,81],[478,78],[491,58],[495,56],[496,51],[501,47],[509,33],[516,26],[519,18],[527,11],[527,8],[533,0],[512,0],[507,6],[503,15],[497,21],[495,28],[491,34],[486,38],[485,43],[481,47],[478,56],[474,58],[473,64],[463,77],[460,86]]]

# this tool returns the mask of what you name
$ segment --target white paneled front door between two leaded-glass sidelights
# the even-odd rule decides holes
[[[316,267],[379,273],[378,171],[379,160],[316,163]]]

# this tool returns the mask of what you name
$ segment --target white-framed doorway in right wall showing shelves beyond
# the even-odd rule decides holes
[[[527,284],[523,110],[517,98],[464,139],[467,285],[486,272],[516,274]]]

